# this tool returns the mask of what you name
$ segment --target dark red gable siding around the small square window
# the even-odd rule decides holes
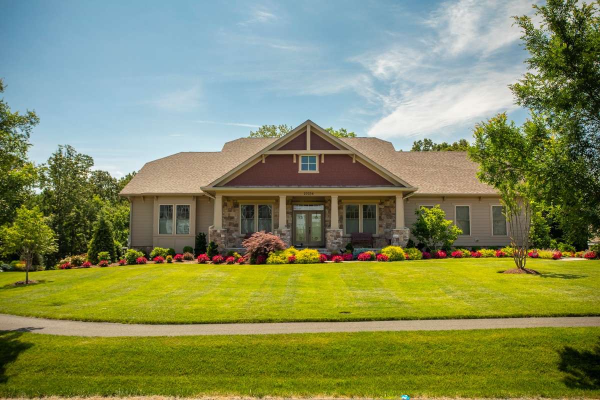
[[[361,163],[344,154],[326,154],[319,173],[299,173],[292,155],[269,155],[236,176],[225,186],[394,186]]]

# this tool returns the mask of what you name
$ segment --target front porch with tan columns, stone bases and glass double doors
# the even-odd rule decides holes
[[[373,248],[406,245],[403,193],[329,193],[215,193],[208,239],[221,250],[239,249],[251,233],[265,230],[287,246],[335,252],[351,242],[353,232],[361,232],[370,234]]]

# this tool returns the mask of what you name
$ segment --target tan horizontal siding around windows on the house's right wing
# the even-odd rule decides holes
[[[471,234],[458,237],[455,246],[504,246],[508,245],[508,236],[492,236],[491,234],[491,206],[500,205],[498,197],[421,197],[413,196],[404,204],[404,221],[406,226],[412,228],[416,221],[415,210],[419,206],[435,206],[446,213],[446,219],[454,221],[454,206],[470,206],[471,211]],[[411,235],[412,239],[415,238]]]

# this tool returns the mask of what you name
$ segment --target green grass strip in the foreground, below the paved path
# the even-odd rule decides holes
[[[600,398],[600,328],[80,338],[0,333],[0,396]]]

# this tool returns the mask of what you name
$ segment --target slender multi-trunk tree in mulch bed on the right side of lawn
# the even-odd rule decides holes
[[[524,270],[529,249],[532,213],[535,209],[536,182],[540,166],[537,163],[537,143],[546,137],[541,119],[527,121],[523,127],[509,124],[506,113],[475,126],[475,145],[469,157],[479,164],[480,181],[500,193],[509,223],[513,258],[518,269]]]

